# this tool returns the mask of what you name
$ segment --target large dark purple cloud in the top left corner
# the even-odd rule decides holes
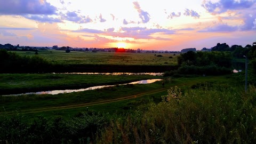
[[[8,0],[0,1],[0,14],[56,14],[57,8],[45,0]]]

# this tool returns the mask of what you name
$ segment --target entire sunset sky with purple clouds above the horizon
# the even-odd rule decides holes
[[[256,0],[0,0],[0,44],[180,51],[256,42]]]

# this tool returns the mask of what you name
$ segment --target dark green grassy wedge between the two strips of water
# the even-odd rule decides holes
[[[150,75],[0,74],[0,94],[82,89],[152,78],[162,77]]]

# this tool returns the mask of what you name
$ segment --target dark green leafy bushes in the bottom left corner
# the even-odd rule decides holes
[[[1,143],[86,143],[109,123],[107,115],[82,113],[65,120],[61,117],[46,119],[38,116],[33,122],[23,121],[23,116],[0,116]],[[3,131],[4,130],[4,131]],[[90,142],[90,141],[89,141]]]

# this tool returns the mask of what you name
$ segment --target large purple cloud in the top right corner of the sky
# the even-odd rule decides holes
[[[220,0],[217,3],[212,3],[211,1],[203,1],[202,6],[205,10],[207,10],[210,13],[223,13],[228,10],[241,10],[241,9],[247,9],[251,7],[253,4],[255,4],[256,1],[247,1],[247,0]]]

